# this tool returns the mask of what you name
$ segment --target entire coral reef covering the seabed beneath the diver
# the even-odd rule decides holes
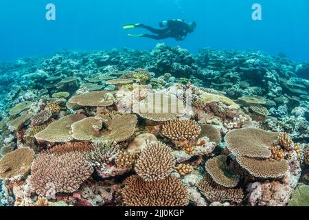
[[[307,206],[303,67],[163,43],[0,63],[0,206]]]

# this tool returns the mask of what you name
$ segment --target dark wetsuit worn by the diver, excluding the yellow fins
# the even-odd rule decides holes
[[[183,41],[187,36],[187,34],[190,33],[189,25],[187,25],[187,23],[181,20],[168,20],[166,22],[168,28],[164,29],[156,29],[144,24],[140,24],[138,28],[145,28],[146,30],[149,30],[154,34],[157,34],[157,35],[154,34],[142,35],[142,37],[147,37],[155,40],[174,38],[176,39],[176,41]],[[160,23],[160,26],[162,26],[162,23]]]

